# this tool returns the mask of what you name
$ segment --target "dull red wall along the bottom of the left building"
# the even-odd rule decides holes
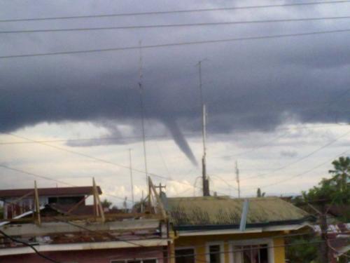
[[[110,263],[120,259],[151,259],[157,258],[163,263],[163,247],[122,248],[106,250],[78,250],[44,252],[44,255],[62,263]],[[48,263],[48,260],[34,254],[11,255],[0,257],[0,263]]]

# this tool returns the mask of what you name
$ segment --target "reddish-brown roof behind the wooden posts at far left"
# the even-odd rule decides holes
[[[99,194],[102,194],[101,188],[97,187]],[[0,190],[0,198],[20,197],[34,191],[29,189],[6,189]],[[80,196],[92,194],[92,187],[51,187],[38,188],[39,196]]]

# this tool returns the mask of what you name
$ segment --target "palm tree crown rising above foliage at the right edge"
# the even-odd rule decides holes
[[[339,191],[344,192],[348,187],[348,180],[350,180],[350,158],[339,157],[338,160],[332,161],[334,170],[329,170],[328,173],[332,173],[334,176],[332,180],[335,180]]]

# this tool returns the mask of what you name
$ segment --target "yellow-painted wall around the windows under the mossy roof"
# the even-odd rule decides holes
[[[281,232],[271,233],[258,233],[258,234],[231,234],[231,235],[211,235],[211,236],[181,236],[175,239],[174,245],[176,248],[195,248],[196,262],[202,263],[207,261],[207,243],[222,242],[224,247],[224,259],[225,263],[232,263],[230,257],[230,245],[229,241],[255,239],[255,238],[271,238],[272,236],[278,236]],[[283,238],[273,238],[274,249],[274,263],[285,263],[285,251]]]

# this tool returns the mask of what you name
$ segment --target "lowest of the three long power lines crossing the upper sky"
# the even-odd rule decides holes
[[[305,33],[295,33],[295,34],[275,34],[270,36],[248,36],[241,38],[232,38],[232,39],[214,39],[214,40],[203,40],[203,41],[184,41],[178,43],[164,43],[164,44],[155,44],[142,46],[143,49],[147,48],[165,48],[172,46],[191,46],[191,45],[200,45],[207,43],[225,43],[225,42],[235,42],[235,41],[246,41],[246,40],[259,40],[259,39],[281,39],[285,37],[292,36],[311,36],[317,34],[333,34],[333,33],[344,33],[350,32],[350,29],[335,29],[335,30],[326,30],[326,31],[314,31],[314,32],[305,32]],[[31,53],[31,54],[21,54],[21,55],[2,55],[0,59],[5,58],[29,58],[29,57],[42,57],[47,55],[70,55],[70,54],[81,54],[81,53],[100,53],[100,52],[111,52],[111,51],[122,51],[122,50],[136,50],[139,49],[139,46],[125,46],[120,48],[99,48],[99,49],[90,49],[90,50],[75,50],[75,51],[59,51],[52,53]]]

